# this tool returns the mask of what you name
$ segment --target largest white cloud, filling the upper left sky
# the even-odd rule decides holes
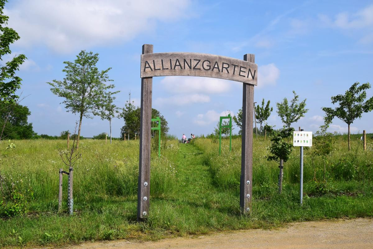
[[[157,21],[183,18],[189,0],[25,0],[4,13],[19,46],[46,44],[57,52],[125,41],[153,32]]]

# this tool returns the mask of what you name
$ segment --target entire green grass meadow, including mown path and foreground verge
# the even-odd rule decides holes
[[[240,215],[241,142],[218,143],[201,138],[193,144],[167,141],[162,157],[152,152],[151,199],[147,222],[136,222],[138,141],[82,140],[82,160],[74,168],[73,216],[57,212],[57,150],[62,140],[15,141],[17,148],[1,156],[0,172],[9,183],[35,199],[24,217],[0,219],[0,247],[66,245],[107,239],[155,240],[210,231],[270,228],[285,222],[339,217],[372,217],[372,140],[362,151],[360,141],[337,137],[328,158],[332,191],[315,194],[314,168],[322,161],[305,150],[304,205],[298,194],[299,150],[285,163],[283,193],[277,194],[278,165],[267,162],[269,141],[254,139],[253,213]],[[4,144],[2,144],[4,145]],[[64,168],[66,170],[66,168]],[[317,172],[317,174],[320,174]],[[21,181],[22,180],[22,181]],[[67,182],[64,182],[66,203]]]

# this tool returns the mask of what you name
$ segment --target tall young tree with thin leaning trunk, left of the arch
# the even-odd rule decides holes
[[[77,147],[79,147],[83,117],[93,118],[90,114],[100,115],[100,111],[112,98],[112,95],[119,92],[109,91],[114,88],[114,85],[105,84],[107,81],[113,81],[109,79],[107,74],[111,68],[99,71],[96,67],[97,62],[98,53],[87,53],[82,50],[74,62],[63,62],[66,64],[65,69],[62,70],[66,73],[63,81],[47,82],[52,86],[50,88],[52,93],[65,98],[62,103],[65,104],[67,112],[79,114]]]

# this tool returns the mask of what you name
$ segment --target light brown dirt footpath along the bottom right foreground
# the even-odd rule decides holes
[[[197,238],[179,237],[157,242],[126,240],[83,243],[71,249],[164,249],[164,248],[373,248],[373,219],[297,222],[276,230],[239,230]]]

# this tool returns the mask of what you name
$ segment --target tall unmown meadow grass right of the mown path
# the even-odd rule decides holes
[[[352,139],[352,150],[347,149],[345,136],[334,136],[333,151],[327,156],[326,170],[334,181],[364,181],[373,179],[373,139],[368,136],[367,150],[363,150],[360,137]],[[239,190],[241,175],[241,139],[232,140],[232,151],[229,152],[229,140],[222,142],[222,154],[219,155],[219,144],[211,139],[199,138],[195,145],[206,152],[206,164],[212,174],[213,183],[222,189]],[[258,138],[253,140],[253,186],[254,191],[263,189],[255,186],[275,186],[278,181],[279,164],[267,161],[267,148],[270,140]],[[313,147],[304,150],[304,182],[311,183],[316,178],[322,178],[323,172],[318,170],[323,167],[324,161],[320,156],[312,157]],[[284,183],[297,184],[299,181],[300,150],[295,147],[284,164]]]

